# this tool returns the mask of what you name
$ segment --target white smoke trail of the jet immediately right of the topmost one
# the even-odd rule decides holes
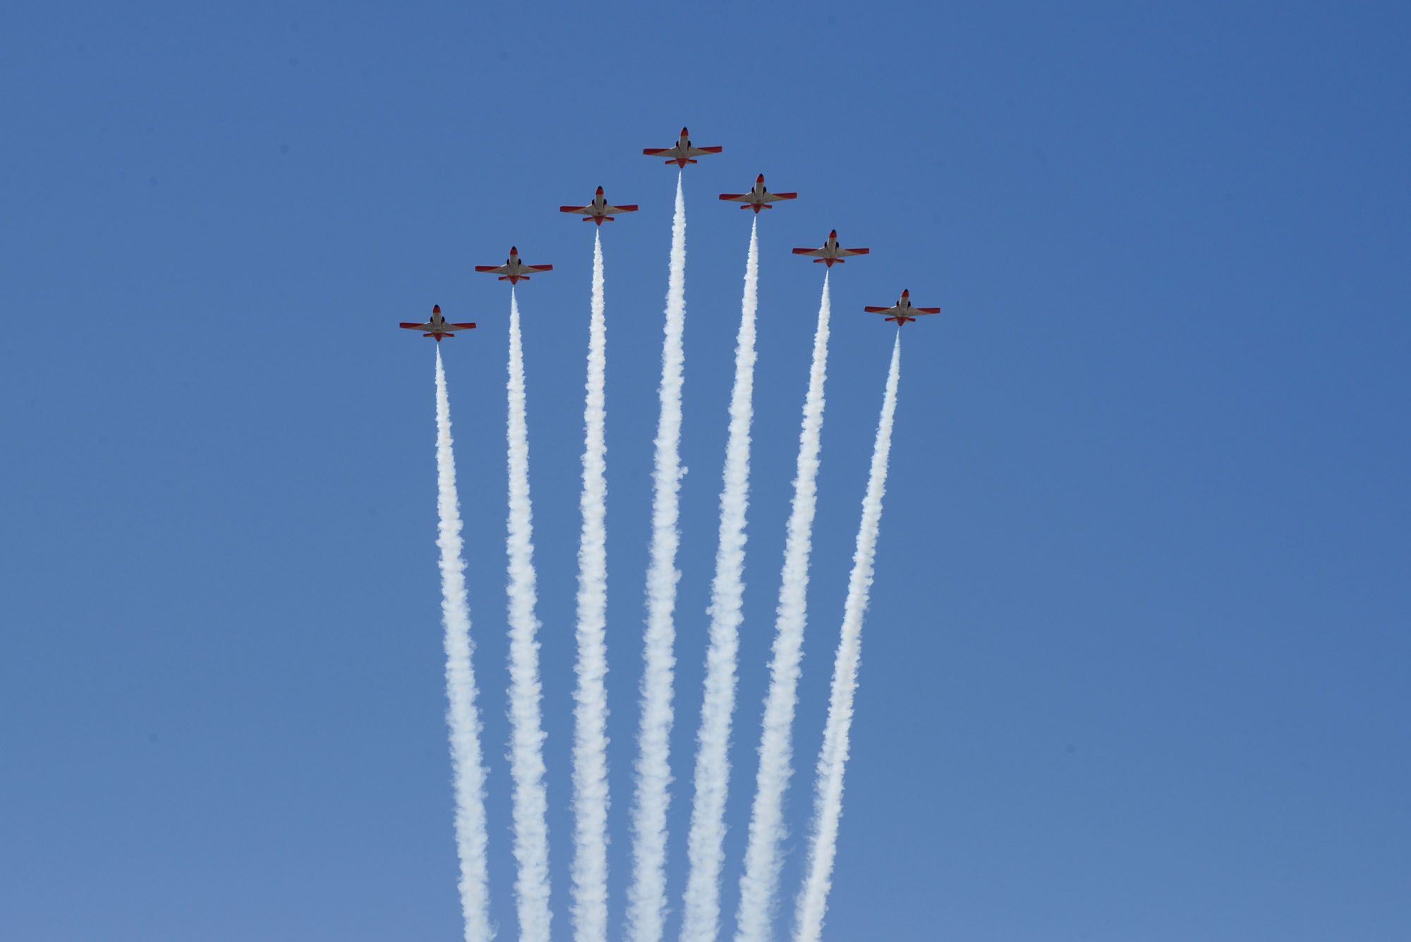
[[[720,494],[720,544],[711,585],[706,698],[696,752],[696,802],[689,840],[683,942],[714,942],[720,931],[720,869],[724,860],[725,794],[729,787],[729,722],[735,712],[735,654],[745,595],[745,513],[749,509],[749,423],[753,419],[755,312],[759,306],[759,240],[749,230],[745,296],[735,337],[735,386],[729,393],[729,439]]]

